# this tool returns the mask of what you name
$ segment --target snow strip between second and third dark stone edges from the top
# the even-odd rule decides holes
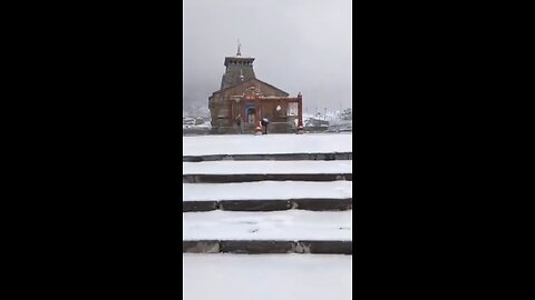
[[[352,181],[260,181],[240,183],[183,183],[184,201],[261,199],[344,199],[352,197]]]

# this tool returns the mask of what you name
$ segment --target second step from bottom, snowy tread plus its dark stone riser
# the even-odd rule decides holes
[[[352,182],[260,181],[183,183],[183,212],[210,210],[348,210]]]

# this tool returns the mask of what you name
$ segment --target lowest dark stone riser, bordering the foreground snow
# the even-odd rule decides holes
[[[186,240],[182,241],[182,252],[352,254],[353,242],[337,240]]]

